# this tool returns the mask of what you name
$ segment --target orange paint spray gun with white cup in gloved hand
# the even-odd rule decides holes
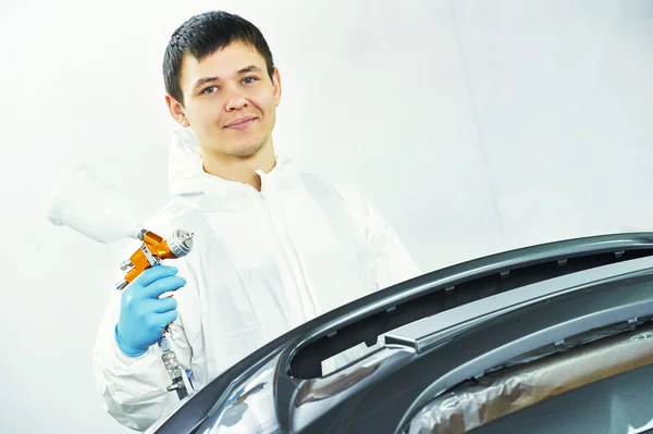
[[[185,257],[193,249],[193,233],[176,230],[164,239],[144,228],[127,198],[85,166],[76,166],[60,179],[50,200],[48,220],[98,243],[109,244],[125,238],[141,241],[140,247],[120,264],[125,275],[115,284],[118,290],[124,289],[140,273],[159,265],[162,260]],[[172,380],[168,390],[175,390],[181,400],[188,396],[188,392],[183,369],[169,340],[175,339],[171,325],[168,324],[158,345]]]

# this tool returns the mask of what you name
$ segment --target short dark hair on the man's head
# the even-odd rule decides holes
[[[243,42],[255,48],[266,59],[268,75],[272,78],[274,61],[258,27],[238,15],[210,11],[190,17],[172,34],[163,57],[165,91],[183,104],[180,76],[184,55],[192,55],[200,62],[232,42]]]

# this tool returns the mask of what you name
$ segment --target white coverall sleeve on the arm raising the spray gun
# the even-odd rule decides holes
[[[138,246],[138,243],[132,243],[124,255],[131,256]],[[178,274],[183,275],[178,261],[181,260],[176,260],[173,265],[177,266]],[[122,277],[123,275],[119,273],[116,282]],[[180,292],[192,288],[188,288],[187,283]],[[176,393],[167,389],[171,379],[161,360],[162,350],[158,345],[152,345],[145,355],[139,357],[128,357],[118,347],[114,327],[120,318],[121,295],[122,292],[114,288],[109,295],[109,302],[93,349],[94,373],[106,411],[121,424],[136,431],[145,431],[162,414],[178,406],[180,400]],[[183,324],[185,308],[183,300],[178,300],[177,320],[172,325],[175,339],[171,344],[184,371],[189,371],[193,350],[188,345]],[[186,376],[184,381],[188,390],[193,390]]]

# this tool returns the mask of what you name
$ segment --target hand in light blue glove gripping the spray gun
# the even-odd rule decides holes
[[[174,266],[152,266],[123,289],[115,342],[126,356],[146,354],[150,345],[159,340],[163,328],[176,320],[176,300],[168,297],[159,299],[162,294],[186,284],[186,280],[176,276],[176,273]]]

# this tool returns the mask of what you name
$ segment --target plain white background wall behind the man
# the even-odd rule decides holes
[[[275,142],[357,182],[424,271],[653,228],[645,0],[21,1],[0,7],[2,433],[120,433],[91,374],[118,245],[45,218],[93,166],[149,216],[168,198],[161,60],[208,9],[282,73]]]

